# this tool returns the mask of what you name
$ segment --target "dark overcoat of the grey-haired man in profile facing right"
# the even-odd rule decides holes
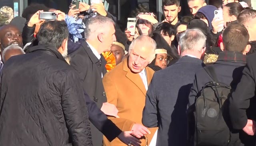
[[[103,135],[100,131],[102,131],[106,136],[113,134],[110,136],[110,139],[112,139],[112,137],[118,136],[118,132],[120,134],[119,130],[116,131],[113,129],[111,130],[111,133],[108,133],[109,131],[104,130],[106,127],[114,126],[113,123],[109,123],[108,119],[106,119],[106,115],[103,116],[103,113],[99,111],[99,109],[102,107],[102,103],[107,101],[101,78],[101,72],[103,75],[106,73],[106,60],[102,55],[101,60],[98,60],[98,58],[92,53],[92,50],[84,40],[81,41],[81,47],[71,53],[70,56],[70,65],[72,65],[78,72],[83,89],[90,97],[90,101],[87,100],[87,102],[94,101],[98,107],[97,108],[94,106],[95,104],[93,105],[93,103],[90,103],[93,106],[91,106],[91,109],[88,108],[88,111],[90,114],[90,121],[93,123],[93,125],[91,124],[93,145],[101,146]],[[110,124],[110,126],[106,124]]]

